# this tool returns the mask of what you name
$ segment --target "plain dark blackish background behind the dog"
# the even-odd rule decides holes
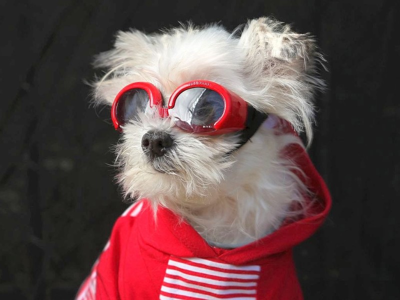
[[[118,133],[84,84],[115,31],[271,15],[314,34],[329,68],[309,152],[333,207],[295,249],[305,299],[399,299],[398,3],[2,0],[0,298],[73,298],[126,207]]]

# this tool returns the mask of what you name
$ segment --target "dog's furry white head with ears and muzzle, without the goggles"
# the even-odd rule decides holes
[[[229,33],[218,25],[191,25],[145,35],[119,32],[114,48],[99,54],[96,66],[108,73],[95,82],[97,102],[111,104],[132,82],[149,82],[163,105],[190,80],[209,80],[244,99],[259,111],[287,120],[311,136],[312,91],[321,59],[312,38],[267,18],[251,20]],[[196,134],[176,126],[146,106],[124,124],[116,146],[118,180],[126,196],[147,197],[155,204],[201,208],[221,194],[260,183],[278,160],[287,141],[260,127],[236,150],[240,132]],[[177,208],[179,209],[179,208]]]

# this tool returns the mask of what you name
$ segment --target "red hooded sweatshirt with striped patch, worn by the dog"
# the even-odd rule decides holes
[[[116,220],[76,299],[302,299],[292,247],[320,226],[331,200],[305,151],[291,145],[287,154],[297,155],[303,180],[317,196],[310,217],[285,222],[250,244],[221,249],[166,208],[158,209],[155,223],[142,199]]]

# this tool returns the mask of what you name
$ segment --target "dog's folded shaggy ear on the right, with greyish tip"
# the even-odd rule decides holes
[[[273,108],[265,109],[291,122],[297,131],[305,129],[310,140],[313,92],[323,86],[316,65],[324,61],[312,36],[261,17],[246,24],[239,46],[246,54],[246,75],[259,86],[266,86],[264,92],[274,99]]]

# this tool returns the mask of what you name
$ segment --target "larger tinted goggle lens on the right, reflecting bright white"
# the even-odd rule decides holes
[[[225,101],[219,93],[203,87],[193,87],[177,96],[175,106],[169,109],[169,114],[179,119],[177,125],[182,129],[212,131],[224,108]],[[183,125],[182,122],[186,124]]]

